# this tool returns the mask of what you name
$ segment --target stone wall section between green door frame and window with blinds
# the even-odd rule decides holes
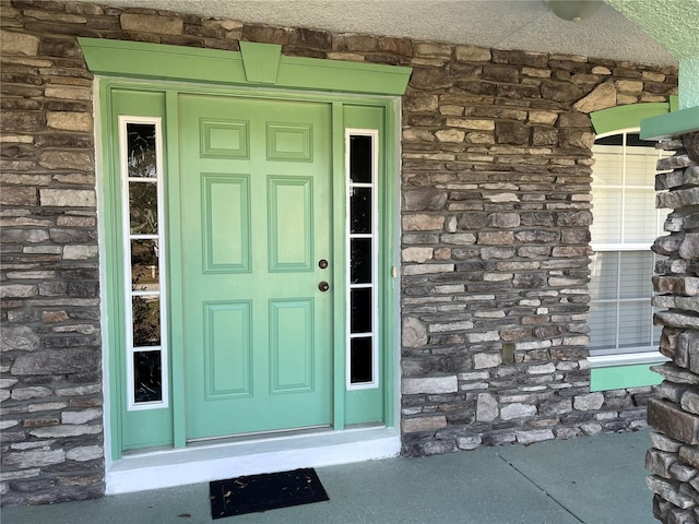
[[[430,454],[643,426],[590,392],[589,112],[675,72],[417,43],[403,127],[403,443]]]

